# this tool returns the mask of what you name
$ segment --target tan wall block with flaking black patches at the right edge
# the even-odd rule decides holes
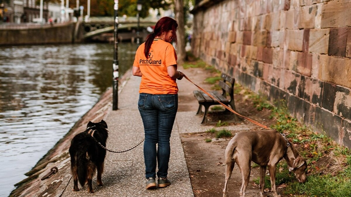
[[[336,86],[335,103],[333,111],[340,117],[351,120],[351,89]]]

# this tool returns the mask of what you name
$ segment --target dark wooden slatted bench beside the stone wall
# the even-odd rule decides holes
[[[234,103],[234,83],[235,79],[233,77],[230,77],[224,73],[221,74],[221,80],[219,81],[219,86],[222,88],[222,92],[220,93],[219,91],[207,91],[210,93],[214,98],[216,98],[218,101],[222,102],[223,104],[230,106],[234,111],[235,109],[235,103]],[[203,114],[202,111],[202,106],[205,107],[205,114],[204,118],[201,122],[201,124],[206,124],[207,123],[207,113],[208,113],[208,108],[212,105],[218,105],[219,103],[215,100],[213,100],[210,96],[205,94],[203,91],[200,90],[195,90],[193,91],[194,96],[199,102],[199,109],[196,113],[196,115],[201,115]],[[229,94],[230,99],[227,98],[227,93]],[[226,111],[229,111],[228,109],[225,109]],[[235,114],[234,118],[237,121],[237,116]]]

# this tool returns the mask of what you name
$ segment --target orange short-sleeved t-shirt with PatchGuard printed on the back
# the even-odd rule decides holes
[[[145,42],[142,43],[135,54],[133,66],[139,67],[143,76],[139,93],[148,94],[177,94],[176,79],[172,79],[167,67],[177,67],[177,54],[171,43],[163,40],[154,40],[150,47],[148,58],[144,54]]]

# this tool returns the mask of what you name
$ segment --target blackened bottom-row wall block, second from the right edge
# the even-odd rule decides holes
[[[338,143],[340,142],[341,120],[342,118],[323,108],[316,107],[314,111],[314,128],[316,128],[319,133],[325,132]]]

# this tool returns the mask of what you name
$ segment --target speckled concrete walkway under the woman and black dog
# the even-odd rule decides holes
[[[133,147],[144,138],[143,122],[138,111],[140,77],[130,76],[118,95],[118,110],[108,112],[106,123],[109,137],[107,148],[121,151]],[[143,144],[124,153],[107,152],[102,181],[98,187],[93,180],[94,196],[123,197],[192,197],[193,191],[180,142],[178,124],[175,123],[171,136],[171,157],[168,179],[172,184],[163,189],[145,189],[145,165]],[[69,181],[62,197],[86,196],[86,190],[72,191],[73,181]]]

